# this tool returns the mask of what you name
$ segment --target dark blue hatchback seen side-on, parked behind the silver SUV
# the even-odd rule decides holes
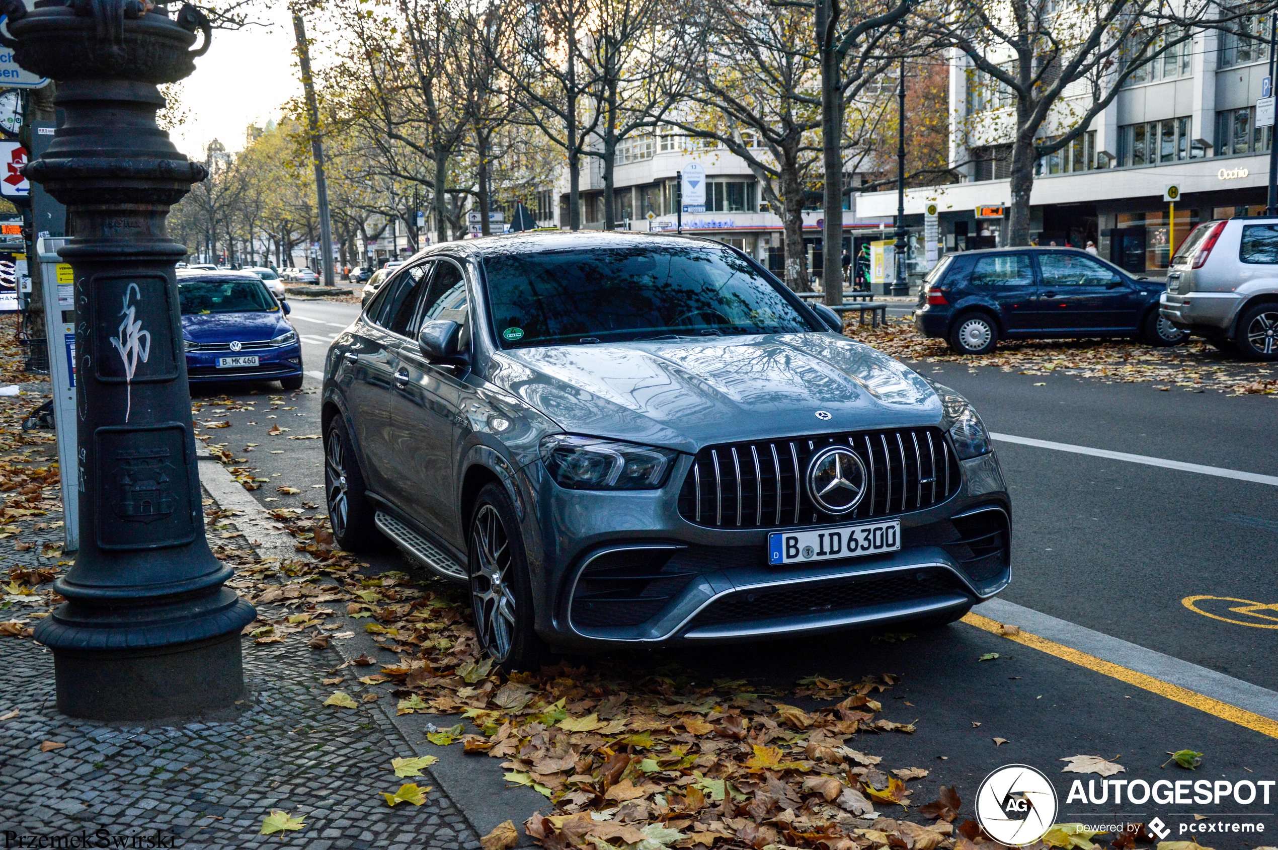
[[[1134,336],[1177,345],[1189,334],[1159,317],[1164,289],[1074,248],[967,251],[947,254],[924,279],[914,325],[960,354],[985,354],[999,339]]]

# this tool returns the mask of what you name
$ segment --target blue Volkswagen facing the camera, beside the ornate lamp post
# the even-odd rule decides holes
[[[302,345],[261,279],[243,272],[178,272],[187,376],[196,381],[279,381],[302,387]]]

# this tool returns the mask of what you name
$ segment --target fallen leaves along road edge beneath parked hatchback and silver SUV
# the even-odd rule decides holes
[[[997,367],[1020,375],[1059,372],[1105,383],[1151,382],[1154,389],[1164,391],[1180,387],[1190,392],[1217,390],[1278,398],[1278,369],[1273,364],[1231,358],[1199,339],[1172,348],[1150,348],[1123,339],[1010,340],[1001,341],[989,354],[961,355],[951,352],[944,340],[921,336],[907,318],[888,318],[878,328],[851,321],[843,332],[916,363]]]

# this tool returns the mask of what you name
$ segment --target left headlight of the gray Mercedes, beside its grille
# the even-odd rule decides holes
[[[633,442],[557,433],[542,440],[542,460],[569,490],[656,490],[677,451]]]

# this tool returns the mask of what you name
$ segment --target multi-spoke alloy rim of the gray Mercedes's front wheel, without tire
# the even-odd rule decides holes
[[[510,656],[515,635],[515,592],[510,536],[492,505],[482,505],[470,532],[475,565],[470,575],[470,607],[479,640],[497,663]]]

